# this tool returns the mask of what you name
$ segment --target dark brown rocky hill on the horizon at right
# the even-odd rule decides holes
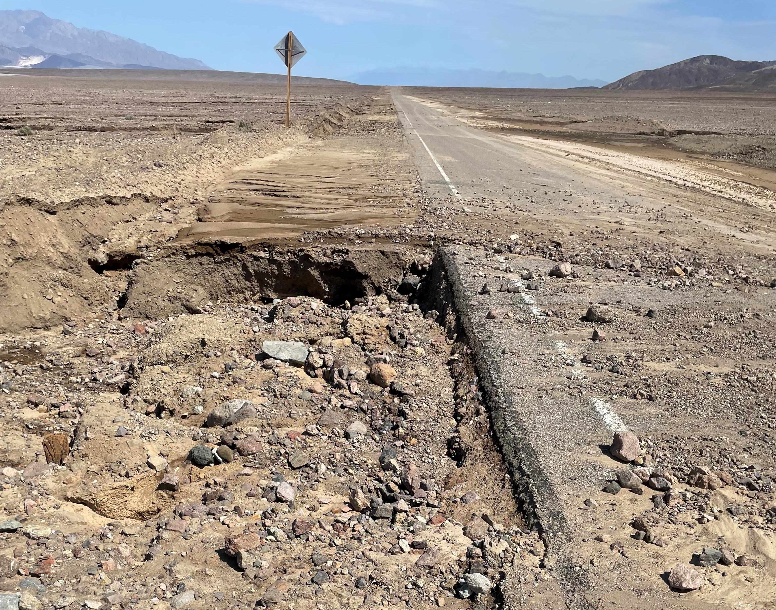
[[[634,72],[604,88],[755,90],[774,87],[776,61],[735,61],[721,55],[699,55],[656,70]]]

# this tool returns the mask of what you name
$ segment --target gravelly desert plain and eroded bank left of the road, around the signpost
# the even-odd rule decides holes
[[[121,271],[196,223],[235,168],[300,142],[320,149],[370,91],[297,85],[287,130],[275,85],[0,78],[0,330],[114,308]],[[25,125],[33,135],[19,135]]]

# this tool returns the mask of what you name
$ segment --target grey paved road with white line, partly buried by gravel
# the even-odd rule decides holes
[[[695,191],[688,194],[676,182],[645,179],[638,172],[623,172],[614,165],[566,154],[541,140],[467,127],[444,108],[424,100],[398,93],[393,98],[414,147],[425,189],[431,196],[446,200],[445,206],[452,209],[466,210],[468,206],[481,204],[505,213],[519,209],[523,218],[525,213],[539,215],[549,221],[550,227],[554,224],[559,235],[566,236],[565,243],[570,234],[584,233],[584,227],[591,233],[594,224],[604,220],[630,224],[629,233],[639,234],[642,228],[639,224],[646,226],[645,210],[664,209],[667,202],[678,203],[678,199],[691,199],[693,204],[708,203],[713,209],[722,205],[713,195]],[[599,205],[603,202],[607,205]],[[583,208],[581,204],[584,209],[578,213],[577,209]],[[637,207],[642,216],[634,214],[629,219],[621,214],[618,220],[618,204],[632,206],[630,209]],[[719,227],[711,221],[705,226],[708,228],[700,232],[697,243],[705,244],[701,241],[704,236],[721,238],[735,233],[735,227]],[[691,227],[695,230],[695,224]],[[598,230],[597,226],[594,228]],[[658,228],[650,227],[639,237],[652,239]],[[665,232],[660,230],[661,234]],[[688,241],[695,239],[695,235],[690,229],[686,231]],[[636,236],[625,239],[636,240]],[[611,242],[606,247],[611,248]],[[587,383],[588,376],[595,377],[598,373],[593,367],[583,365],[582,355],[592,351],[597,354],[598,362],[606,362],[605,358],[612,353],[609,350],[621,354],[649,350],[649,345],[644,347],[640,339],[642,334],[651,333],[654,337],[653,321],[644,313],[633,313],[640,309],[629,309],[631,305],[681,310],[690,300],[709,307],[710,293],[705,293],[707,288],[700,286],[694,296],[661,290],[646,278],[632,279],[626,273],[618,275],[617,271],[606,269],[596,270],[595,278],[587,276],[566,284],[550,281],[539,292],[525,291],[520,266],[546,277],[554,262],[546,258],[497,256],[492,251],[465,247],[444,248],[440,258],[444,263],[440,265],[444,277],[437,279],[439,290],[445,285],[452,288],[456,310],[487,390],[491,418],[504,457],[513,472],[521,475],[517,490],[519,495],[528,497],[528,519],[533,518],[542,531],[547,548],[545,565],[556,571],[557,581],[571,596],[585,591],[591,584],[600,591],[601,573],[590,569],[584,555],[597,552],[588,543],[601,533],[597,529],[604,522],[596,516],[591,518],[580,510],[580,505],[587,497],[606,501],[601,487],[611,479],[614,470],[623,467],[608,455],[613,432],[629,428],[643,438],[670,434],[670,426],[674,429],[684,426],[700,433],[704,425],[713,425],[719,430],[726,422],[688,418],[669,424],[661,418],[660,406],[656,403],[611,400],[608,393],[601,391],[605,387],[601,385],[601,376],[597,387],[591,388]],[[497,285],[507,282],[522,291],[480,294],[483,277],[498,279]],[[745,307],[744,297],[735,291],[718,292],[714,298],[718,299],[717,303],[725,300],[726,307]],[[556,310],[576,312],[573,316],[579,316],[580,311],[584,314],[587,303],[604,302],[622,303],[621,324],[612,331],[628,336],[616,348],[608,347],[611,341],[603,348],[592,344],[591,325],[581,323],[576,317],[551,327],[542,314],[542,311]],[[517,312],[521,319],[487,319],[487,313],[493,309],[502,314]],[[662,337],[656,340],[659,342],[655,345],[665,345]],[[709,433],[719,432],[709,428]],[[736,435],[734,428],[728,433]],[[633,516],[652,508],[649,491],[643,496],[618,494],[617,501],[607,508],[605,522],[613,525],[612,529],[627,532]],[[584,595],[575,603],[580,608],[594,606],[587,605]]]

